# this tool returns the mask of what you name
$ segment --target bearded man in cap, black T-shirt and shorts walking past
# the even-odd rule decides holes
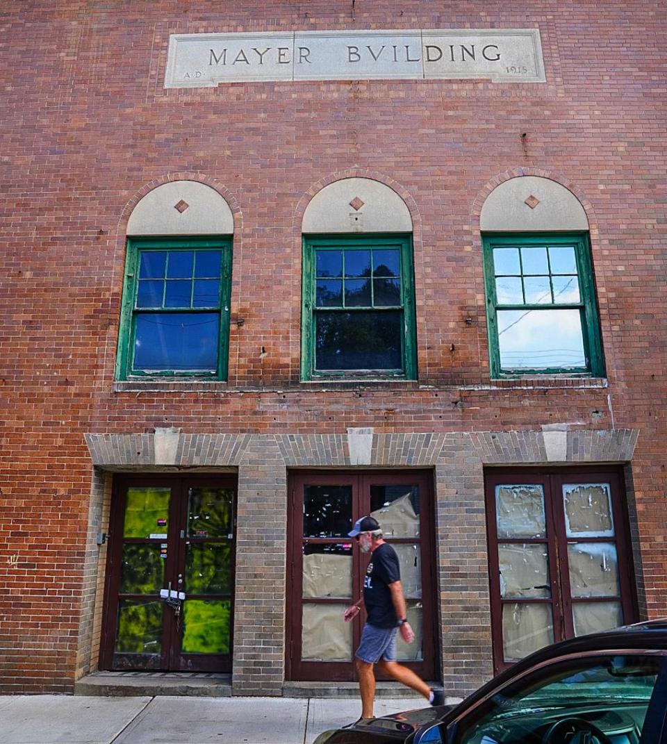
[[[348,535],[357,539],[364,553],[371,554],[363,581],[363,597],[348,607],[343,615],[345,622],[349,623],[357,617],[362,604],[366,607],[366,625],[355,654],[361,718],[373,718],[374,664],[392,679],[417,690],[431,705],[443,705],[444,694],[441,690],[432,690],[412,670],[396,661],[397,632],[407,644],[415,640],[415,633],[407,621],[396,551],[383,540],[380,524],[371,516],[357,519]]]

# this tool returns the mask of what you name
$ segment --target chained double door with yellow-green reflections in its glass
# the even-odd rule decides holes
[[[208,476],[115,479],[101,667],[231,669],[234,496]]]

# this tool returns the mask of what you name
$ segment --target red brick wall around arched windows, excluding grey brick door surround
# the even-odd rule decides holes
[[[84,432],[639,428],[646,612],[667,614],[665,21],[659,4],[604,0],[378,0],[354,17],[343,0],[1,11],[1,690],[71,689]],[[540,29],[547,83],[162,89],[169,33],[528,27]],[[490,184],[524,172],[559,180],[587,209],[608,389],[489,387],[477,216]],[[411,208],[427,390],[299,385],[300,217],[309,194],[353,174],[392,183]],[[124,225],[147,186],[177,177],[216,185],[234,210],[232,318],[245,324],[230,329],[229,385],[114,393]]]

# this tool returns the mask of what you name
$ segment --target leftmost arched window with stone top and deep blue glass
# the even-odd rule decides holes
[[[127,226],[117,379],[226,379],[234,220],[194,181],[157,187]]]

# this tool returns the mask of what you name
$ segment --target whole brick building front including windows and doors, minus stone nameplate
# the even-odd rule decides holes
[[[368,510],[447,693],[667,615],[663,8],[1,18],[1,691],[353,679]],[[174,34],[419,29],[537,29],[544,80],[165,87]]]

